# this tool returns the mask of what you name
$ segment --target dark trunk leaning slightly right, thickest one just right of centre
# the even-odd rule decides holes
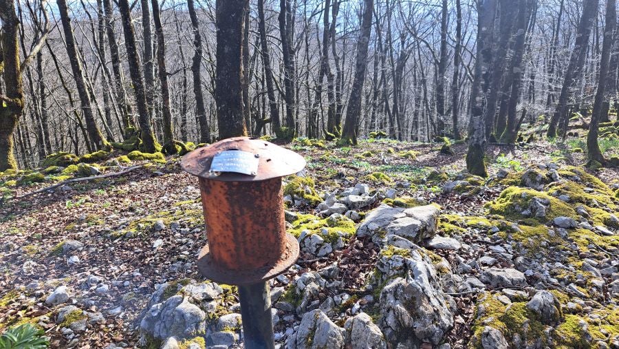
[[[357,144],[357,123],[361,114],[361,96],[365,83],[365,71],[367,70],[367,45],[372,31],[374,1],[364,0],[363,6],[361,31],[357,42],[355,77],[348,99],[346,120],[342,131],[341,142],[343,144]]]

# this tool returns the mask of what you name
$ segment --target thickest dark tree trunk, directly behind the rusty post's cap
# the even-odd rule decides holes
[[[215,103],[219,138],[246,136],[243,118],[243,26],[248,0],[217,0]]]

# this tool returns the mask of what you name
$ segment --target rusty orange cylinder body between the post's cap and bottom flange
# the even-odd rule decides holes
[[[259,182],[199,179],[211,258],[230,271],[259,269],[286,251],[281,178]]]

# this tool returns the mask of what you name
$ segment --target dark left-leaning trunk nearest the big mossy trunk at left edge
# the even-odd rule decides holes
[[[69,10],[67,9],[67,1],[56,0],[56,3],[58,3],[58,12],[60,13],[61,21],[63,22],[67,55],[69,56],[69,63],[71,63],[71,70],[73,72],[76,89],[78,91],[78,95],[80,96],[80,105],[86,120],[86,129],[88,130],[88,136],[90,138],[89,141],[94,149],[108,148],[109,143],[101,134],[92,112],[92,105],[90,102],[91,97],[86,87],[86,82],[82,72],[82,64],[78,59],[77,48],[73,37],[73,28],[69,17]]]

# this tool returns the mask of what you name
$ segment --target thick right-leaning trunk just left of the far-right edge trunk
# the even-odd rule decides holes
[[[569,89],[574,84],[576,76],[583,70],[585,64],[585,56],[587,54],[587,46],[589,45],[589,35],[591,34],[591,28],[594,25],[596,13],[598,12],[598,0],[584,0],[583,15],[578,22],[578,32],[576,33],[576,43],[574,44],[574,50],[569,57],[569,64],[567,70],[565,70],[565,78],[563,79],[563,87],[561,87],[561,94],[559,94],[557,105],[554,109],[554,114],[550,119],[550,125],[548,125],[548,131],[546,135],[548,137],[556,137],[556,127],[562,118],[567,118],[567,101],[569,98]]]

